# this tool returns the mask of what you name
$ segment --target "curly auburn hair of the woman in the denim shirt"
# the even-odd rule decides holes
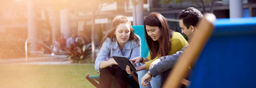
[[[117,29],[117,26],[121,23],[126,23],[130,26],[130,35],[129,35],[129,39],[130,40],[135,40],[137,42],[137,44],[139,45],[139,38],[134,34],[134,29],[132,28],[131,22],[129,21],[129,19],[126,16],[123,15],[117,15],[115,16],[115,18],[112,20],[112,24],[111,24],[111,28],[110,31],[108,31],[108,33],[104,36],[104,38],[101,39],[100,45],[99,45],[99,49],[101,49],[103,42],[106,40],[106,38],[110,38],[112,42],[114,42],[116,40],[116,36],[114,34],[115,30]],[[114,39],[114,40],[113,40]]]

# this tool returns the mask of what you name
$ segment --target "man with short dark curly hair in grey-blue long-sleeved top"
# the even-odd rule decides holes
[[[185,10],[182,10],[179,13],[179,19],[180,19],[180,27],[182,29],[182,33],[186,34],[189,39],[191,39],[191,36],[193,32],[196,30],[196,25],[204,18],[203,14],[193,8],[187,8]],[[167,79],[168,75],[170,74],[173,66],[177,62],[178,58],[181,56],[181,54],[185,51],[187,46],[183,47],[181,51],[176,52],[173,55],[163,56],[161,58],[156,59],[154,62],[150,64],[148,74],[145,74],[141,78],[141,85],[145,85],[145,81],[149,82],[153,77],[156,77],[157,75],[161,74],[161,87],[164,84],[165,80]]]

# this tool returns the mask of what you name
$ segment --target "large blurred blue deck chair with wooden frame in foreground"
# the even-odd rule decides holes
[[[195,66],[190,88],[255,87],[256,18],[217,19],[213,22],[213,26],[215,30],[209,33],[206,41],[196,43],[195,38],[198,40],[203,36],[194,36],[191,46],[176,63],[164,88],[177,87],[178,81],[186,74],[186,69],[182,65],[191,63],[195,63]],[[197,31],[207,30],[207,27],[198,26]],[[204,44],[203,47],[198,48],[192,43]],[[198,55],[189,55],[193,50]],[[189,59],[189,56],[193,55],[195,58]]]

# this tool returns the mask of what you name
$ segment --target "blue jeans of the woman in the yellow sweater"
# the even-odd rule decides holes
[[[148,87],[144,87],[141,85],[141,78],[147,74],[148,70],[141,70],[138,73],[138,80],[139,80],[139,85],[140,88],[160,88],[161,86],[161,76],[157,75],[155,78],[152,77],[151,81],[149,82],[149,84],[147,85]]]

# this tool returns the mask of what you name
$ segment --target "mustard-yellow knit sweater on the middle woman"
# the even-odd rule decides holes
[[[188,45],[188,42],[186,41],[186,39],[178,32],[173,32],[173,37],[171,38],[172,41],[172,46],[171,46],[171,50],[169,51],[169,55],[175,54],[177,51],[181,51],[183,47]],[[159,45],[161,46],[161,45]],[[155,52],[157,53],[157,52]],[[146,66],[147,66],[147,70],[149,69],[150,64],[155,61],[157,58],[160,58],[160,54],[158,55],[158,57],[154,58],[153,60],[151,60],[151,56],[150,56],[150,52],[148,54],[147,59],[149,60],[148,62],[145,62]]]

